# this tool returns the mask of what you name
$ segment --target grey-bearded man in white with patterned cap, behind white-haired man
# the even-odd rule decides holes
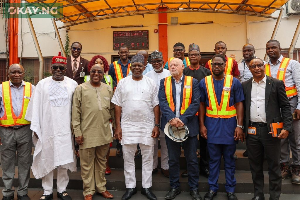
[[[145,76],[156,82],[157,89],[159,90],[159,85],[161,84],[161,79],[171,76],[170,71],[164,69],[164,59],[163,53],[155,50],[151,53],[151,64],[154,70],[149,71]],[[162,115],[162,113],[161,113]],[[165,133],[159,129],[159,140],[161,145],[161,172],[165,177],[169,178],[169,154],[166,144]],[[155,141],[154,145],[154,155],[153,155],[153,173],[157,172],[158,165],[158,139]]]

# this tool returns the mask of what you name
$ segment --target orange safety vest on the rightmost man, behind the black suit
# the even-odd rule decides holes
[[[282,80],[285,84],[285,72],[286,68],[289,65],[290,58],[282,58],[279,69],[277,71],[277,79]],[[268,76],[271,76],[271,69],[270,69],[270,63],[265,64],[265,74]],[[285,92],[287,97],[292,97],[297,95],[296,85],[293,87],[286,87],[285,86]]]

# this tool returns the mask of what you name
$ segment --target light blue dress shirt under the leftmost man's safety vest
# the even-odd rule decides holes
[[[22,110],[23,98],[24,98],[24,86],[25,82],[22,81],[22,84],[19,88],[16,88],[9,81],[10,91],[11,91],[11,102],[13,104],[13,113],[18,117]],[[31,92],[35,89],[34,85],[31,85]],[[4,105],[3,105],[3,93],[2,93],[2,84],[0,85],[0,118],[4,116]]]

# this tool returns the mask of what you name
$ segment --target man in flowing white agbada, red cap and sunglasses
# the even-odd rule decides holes
[[[67,170],[76,172],[73,136],[71,133],[72,98],[77,83],[64,74],[67,59],[52,58],[52,75],[35,87],[29,101],[25,119],[31,121],[35,144],[32,173],[36,179],[43,178],[44,195],[41,200],[53,198],[53,170],[57,168],[57,197],[71,200],[66,192],[69,182]]]

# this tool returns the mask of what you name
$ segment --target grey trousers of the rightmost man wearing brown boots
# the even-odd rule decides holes
[[[292,113],[297,107],[297,102],[297,97],[289,101]],[[292,132],[286,139],[281,139],[280,163],[289,163],[289,147],[292,150],[292,165],[300,166],[300,120],[293,120]]]

